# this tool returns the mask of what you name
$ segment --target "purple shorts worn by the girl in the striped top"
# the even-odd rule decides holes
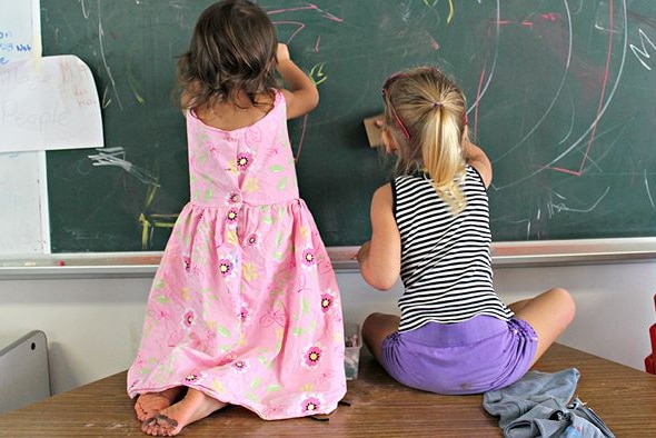
[[[483,394],[528,371],[537,335],[526,321],[484,315],[457,323],[428,322],[382,341],[381,365],[400,384],[425,391]]]

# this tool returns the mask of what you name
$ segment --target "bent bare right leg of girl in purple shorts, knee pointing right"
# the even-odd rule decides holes
[[[561,288],[549,289],[529,300],[509,305],[515,316],[530,323],[538,336],[537,351],[531,366],[565,329],[576,313],[576,305],[569,292]]]

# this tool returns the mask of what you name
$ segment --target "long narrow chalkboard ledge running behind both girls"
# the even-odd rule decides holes
[[[358,247],[328,248],[335,270],[358,272]],[[152,277],[161,251],[0,256],[0,281],[17,279]],[[493,267],[521,268],[639,262],[656,259],[656,238],[514,241],[493,243]]]

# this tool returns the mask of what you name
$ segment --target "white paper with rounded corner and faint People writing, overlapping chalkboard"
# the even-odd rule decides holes
[[[89,67],[72,54],[0,67],[0,152],[103,146]]]

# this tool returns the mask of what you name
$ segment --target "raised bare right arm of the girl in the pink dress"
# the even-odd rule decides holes
[[[304,116],[319,104],[319,92],[315,82],[289,57],[286,44],[278,43],[278,72],[287,89],[282,90],[287,101],[287,119]]]

